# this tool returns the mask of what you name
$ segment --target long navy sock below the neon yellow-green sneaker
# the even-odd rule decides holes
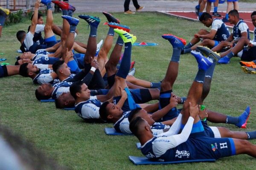
[[[126,79],[131,67],[131,42],[125,43],[125,51],[120,64],[120,68],[116,73],[116,76]]]

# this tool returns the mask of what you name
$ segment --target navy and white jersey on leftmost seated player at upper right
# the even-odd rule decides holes
[[[212,21],[212,30],[216,30],[216,34],[213,40],[224,41],[230,36],[230,31],[227,28],[226,24],[222,22],[221,19],[215,18]]]

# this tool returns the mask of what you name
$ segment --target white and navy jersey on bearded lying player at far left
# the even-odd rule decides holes
[[[41,70],[38,75],[33,79],[33,82],[35,84],[42,85],[43,83],[50,83],[50,84],[56,84],[60,82],[60,79],[53,79],[51,73],[53,70],[51,69],[44,69]]]

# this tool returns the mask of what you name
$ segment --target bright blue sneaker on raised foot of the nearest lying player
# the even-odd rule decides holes
[[[212,59],[204,57],[200,52],[193,50],[190,53],[195,57],[196,61],[198,62],[198,68],[203,69],[204,71],[207,71],[213,63]]]

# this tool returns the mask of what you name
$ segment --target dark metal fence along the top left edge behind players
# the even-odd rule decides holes
[[[35,2],[36,0],[0,0],[0,6],[10,11],[27,11],[35,6]],[[45,9],[44,4],[41,4],[39,9]]]

